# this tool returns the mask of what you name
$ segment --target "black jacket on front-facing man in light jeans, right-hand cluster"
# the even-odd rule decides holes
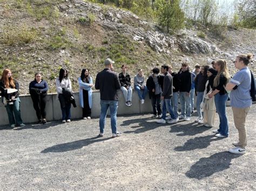
[[[179,70],[179,91],[180,92],[187,92],[190,93],[191,86],[192,86],[192,77],[189,70],[183,72]]]

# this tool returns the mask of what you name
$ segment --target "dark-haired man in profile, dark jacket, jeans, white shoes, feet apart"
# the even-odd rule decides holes
[[[168,72],[169,66],[162,66],[161,73],[164,74],[164,84],[163,84],[163,92],[161,94],[161,100],[163,103],[162,110],[163,114],[161,119],[157,121],[157,123],[165,124],[166,120],[170,120],[170,123],[177,123],[178,117],[174,115],[172,106],[171,106],[171,98],[172,98],[172,76]],[[167,110],[170,113],[170,117],[166,117]]]

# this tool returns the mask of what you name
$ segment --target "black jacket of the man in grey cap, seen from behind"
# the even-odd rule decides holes
[[[96,76],[95,88],[99,89],[100,100],[118,100],[117,90],[121,88],[117,73],[108,68]]]

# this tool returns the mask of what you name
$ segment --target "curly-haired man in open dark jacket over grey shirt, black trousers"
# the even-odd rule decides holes
[[[153,68],[153,74],[149,76],[146,82],[147,90],[149,91],[149,98],[153,108],[153,116],[161,118],[161,93],[163,89],[164,76],[159,75],[160,70]]]

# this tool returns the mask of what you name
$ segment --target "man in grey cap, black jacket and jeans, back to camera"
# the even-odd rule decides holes
[[[117,73],[113,72],[113,61],[106,59],[104,61],[105,69],[96,76],[95,88],[100,92],[100,117],[99,117],[99,137],[104,136],[104,126],[107,109],[110,108],[112,138],[121,136],[122,133],[117,131],[117,90],[121,84],[118,80]]]

